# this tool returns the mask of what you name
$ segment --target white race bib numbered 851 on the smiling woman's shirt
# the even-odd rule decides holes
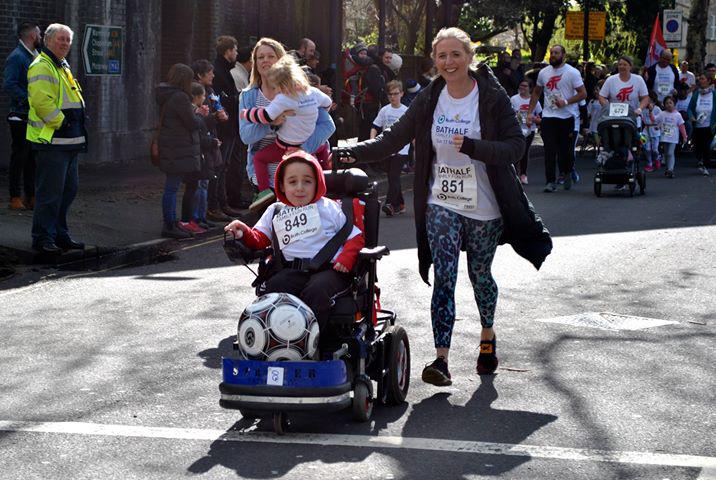
[[[450,166],[435,164],[433,203],[458,210],[477,209],[477,172],[466,164]]]

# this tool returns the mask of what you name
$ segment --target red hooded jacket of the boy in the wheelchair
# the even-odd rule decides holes
[[[323,169],[318,163],[318,160],[316,160],[313,155],[306,153],[303,150],[297,150],[279,163],[276,168],[274,185],[277,187],[282,185],[283,171],[286,169],[286,165],[291,160],[295,161],[296,158],[299,158],[301,162],[306,163],[313,168],[313,172],[316,177],[316,194],[310,203],[316,203],[326,195],[326,177],[323,175]],[[276,188],[276,198],[284,205],[294,206],[288,201],[286,195],[281,191],[280,187]],[[327,198],[326,201],[332,202],[333,200]],[[361,232],[364,230],[363,211],[363,206],[360,204],[358,199],[353,200],[353,220],[355,226],[357,226]],[[263,232],[255,228],[244,229],[243,240],[244,244],[253,250],[263,249],[271,245],[271,239],[264,235]],[[328,240],[330,239],[326,239],[326,243]],[[358,252],[360,252],[361,248],[364,246],[365,238],[362,233],[351,238],[350,240],[347,240],[346,243],[343,244],[343,251],[336,258],[336,263],[340,263],[348,270],[351,270],[355,266],[356,260],[358,259]]]

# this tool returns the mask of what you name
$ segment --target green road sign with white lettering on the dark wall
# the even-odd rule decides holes
[[[122,27],[85,25],[82,59],[87,75],[122,75],[124,35]]]

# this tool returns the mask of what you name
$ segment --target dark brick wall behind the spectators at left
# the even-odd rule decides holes
[[[177,62],[213,60],[218,35],[234,35],[240,45],[250,37],[271,36],[295,48],[301,37],[313,38],[328,53],[328,0],[0,0],[0,61],[17,44],[17,25],[26,20],[41,29],[54,22],[75,32],[68,61],[80,81],[89,117],[89,151],[81,163],[146,161],[158,119],[154,89]],[[124,30],[124,64],[120,77],[87,76],[81,59],[85,25]],[[328,58],[325,59],[329,63]],[[9,99],[0,90],[0,115]],[[10,139],[0,125],[0,168],[9,163]]]

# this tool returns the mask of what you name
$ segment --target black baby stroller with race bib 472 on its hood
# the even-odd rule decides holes
[[[602,109],[597,123],[601,144],[598,147],[594,194],[602,196],[602,185],[624,185],[629,196],[646,191],[646,175],[639,160],[641,145],[637,115],[627,103],[610,103]]]

